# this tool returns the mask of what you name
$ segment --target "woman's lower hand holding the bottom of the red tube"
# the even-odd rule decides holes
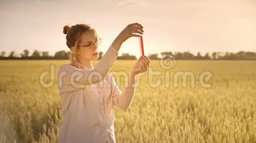
[[[139,73],[147,72],[150,62],[151,61],[147,56],[140,56],[130,71],[130,74],[137,75]]]

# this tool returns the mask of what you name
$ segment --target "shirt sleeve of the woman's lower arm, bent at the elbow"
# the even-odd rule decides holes
[[[126,82],[123,91],[121,91],[117,86],[115,79],[113,78],[113,75],[110,74],[110,76],[111,76],[110,79],[111,79],[111,94],[113,96],[113,106],[125,111],[132,104],[132,100],[136,91],[136,86],[135,86],[136,80],[135,82],[130,83],[130,85],[128,85],[128,82]]]

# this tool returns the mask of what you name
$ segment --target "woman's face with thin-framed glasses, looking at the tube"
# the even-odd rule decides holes
[[[98,52],[97,44],[94,43],[96,39],[98,39],[98,37],[94,31],[90,30],[81,34],[81,40],[80,40],[80,43],[78,44],[79,48],[76,51],[76,56],[77,56],[76,58],[78,58],[81,61],[97,60],[99,56],[99,52]]]

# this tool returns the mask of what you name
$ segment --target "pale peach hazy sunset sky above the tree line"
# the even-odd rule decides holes
[[[64,25],[87,23],[105,53],[135,22],[144,27],[145,55],[256,52],[256,0],[0,0],[0,51],[69,51]],[[139,38],[129,38],[119,53],[139,57]]]

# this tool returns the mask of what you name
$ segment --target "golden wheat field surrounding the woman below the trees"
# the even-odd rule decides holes
[[[98,61],[94,61],[94,66]],[[57,68],[67,60],[0,61],[0,143],[56,143],[62,122]],[[135,61],[117,60],[112,71],[129,71]],[[43,87],[39,75],[54,65],[53,86]],[[172,69],[151,61],[153,82],[143,75],[131,107],[115,109],[117,143],[256,143],[256,61],[177,61]],[[166,71],[169,87],[166,87]],[[195,87],[174,87],[178,71],[195,75]],[[199,75],[212,73],[200,86]],[[50,77],[45,77],[45,82]],[[120,82],[120,89],[124,84]],[[85,120],[86,121],[86,120]]]

